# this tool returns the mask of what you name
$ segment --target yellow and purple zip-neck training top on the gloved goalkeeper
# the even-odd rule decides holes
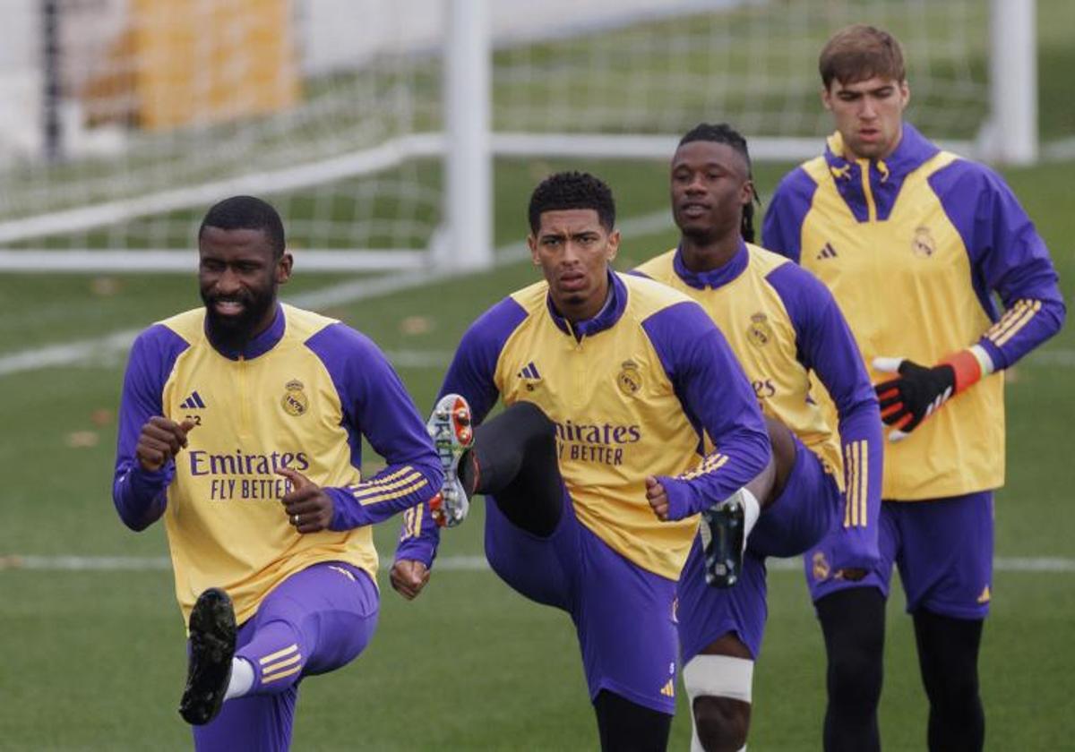
[[[886,160],[843,154],[837,132],[823,155],[784,177],[762,245],[832,290],[868,365],[877,357],[933,365],[977,345],[999,372],[1060,329],[1065,309],[1048,249],[997,173],[909,124]],[[890,444],[884,497],[1002,486],[1003,389],[1002,375],[987,376]]]

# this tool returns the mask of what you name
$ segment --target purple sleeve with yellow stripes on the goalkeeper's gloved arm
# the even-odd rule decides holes
[[[969,160],[930,176],[930,187],[971,257],[973,285],[994,322],[978,345],[1006,368],[1056,334],[1065,307],[1049,251],[1004,179]],[[997,292],[1006,309],[998,315]]]

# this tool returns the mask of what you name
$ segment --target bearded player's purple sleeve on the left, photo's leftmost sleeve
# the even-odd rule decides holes
[[[142,469],[135,458],[142,426],[164,413],[161,403],[175,359],[189,345],[163,324],[142,332],[127,360],[124,390],[119,397],[119,435],[116,440],[116,465],[112,479],[112,502],[124,524],[142,531],[160,519],[168,505],[168,485],[175,475],[169,461],[157,472]]]

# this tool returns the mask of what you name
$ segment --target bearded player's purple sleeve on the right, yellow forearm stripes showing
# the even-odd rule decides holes
[[[343,407],[352,463],[361,465],[361,437],[387,466],[357,486],[326,488],[334,511],[330,530],[370,525],[424,504],[444,476],[426,424],[388,359],[369,337],[334,323],[306,341],[325,364]]]

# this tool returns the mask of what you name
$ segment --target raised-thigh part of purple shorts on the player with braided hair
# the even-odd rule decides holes
[[[843,494],[817,454],[796,437],[796,463],[784,491],[750,532],[747,548],[758,555],[798,556],[816,546],[840,515]]]

